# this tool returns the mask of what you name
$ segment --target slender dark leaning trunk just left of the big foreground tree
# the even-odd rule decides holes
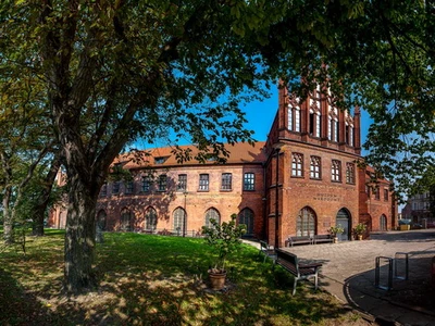
[[[53,188],[53,184],[55,180],[55,176],[61,166],[60,154],[57,153],[53,160],[51,161],[50,171],[47,173],[47,176],[44,179],[44,188],[39,193],[37,203],[34,208],[34,223],[32,228],[32,234],[37,237],[44,236],[44,220],[46,217],[46,211],[48,203],[50,202],[51,189]]]

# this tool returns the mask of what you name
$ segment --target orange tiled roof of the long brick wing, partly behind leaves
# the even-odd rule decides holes
[[[252,147],[247,142],[237,142],[234,146],[226,145],[225,149],[228,151],[229,156],[226,159],[226,164],[241,164],[241,163],[261,163],[265,162],[266,155],[263,151],[265,142],[258,141]],[[182,150],[191,150],[191,156],[198,153],[195,146],[181,146]],[[145,166],[176,166],[176,165],[197,165],[197,164],[216,164],[214,161],[207,161],[200,163],[191,159],[190,161],[178,163],[176,155],[173,153],[174,148],[162,147],[149,150],[138,151],[137,154],[126,153],[121,154],[115,161],[122,163],[124,168],[140,168]],[[140,158],[140,159],[139,159]]]

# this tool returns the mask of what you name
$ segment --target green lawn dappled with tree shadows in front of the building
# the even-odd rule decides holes
[[[105,234],[97,247],[98,290],[62,296],[63,237],[29,238],[27,253],[0,252],[0,325],[364,325],[312,285],[291,296],[291,277],[244,244],[227,289],[207,287],[203,239]]]

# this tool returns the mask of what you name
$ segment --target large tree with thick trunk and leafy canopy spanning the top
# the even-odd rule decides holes
[[[0,59],[40,76],[65,154],[67,291],[95,284],[98,192],[135,137],[163,131],[225,154],[224,141],[250,140],[239,103],[278,77],[308,85],[301,92],[326,83],[332,101],[363,103],[376,122],[391,100],[433,118],[421,104],[434,49],[423,2],[7,0],[0,9]]]

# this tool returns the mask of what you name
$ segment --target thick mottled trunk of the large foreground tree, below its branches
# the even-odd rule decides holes
[[[96,287],[92,274],[98,193],[77,172],[69,173],[69,210],[65,235],[65,290],[79,293]]]

